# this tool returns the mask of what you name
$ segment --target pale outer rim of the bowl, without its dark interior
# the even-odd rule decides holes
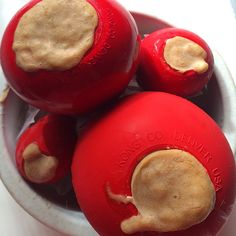
[[[143,13],[133,12],[133,14],[144,15]],[[152,15],[146,15],[159,20]],[[162,21],[162,20],[160,20]],[[167,23],[168,24],[168,23]],[[215,49],[212,49],[215,66],[214,73],[219,83],[222,93],[222,106],[224,113],[227,114],[222,123],[222,131],[225,134],[233,154],[236,154],[236,87],[232,75],[228,70],[222,57]],[[11,93],[10,93],[10,96]],[[7,98],[9,99],[9,97]],[[5,104],[0,106],[0,177],[3,184],[14,198],[14,200],[31,216],[39,220],[44,225],[64,234],[69,235],[97,235],[90,226],[82,212],[65,209],[53,202],[44,199],[38,195],[30,186],[23,180],[20,174],[16,171],[16,167],[12,165],[10,154],[5,143]],[[15,187],[17,184],[17,187]],[[20,189],[20,191],[19,191]],[[28,201],[25,201],[27,196]]]

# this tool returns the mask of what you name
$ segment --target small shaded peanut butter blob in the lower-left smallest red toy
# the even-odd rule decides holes
[[[45,183],[53,179],[59,164],[56,157],[42,154],[35,143],[29,144],[22,155],[24,172],[30,181]]]

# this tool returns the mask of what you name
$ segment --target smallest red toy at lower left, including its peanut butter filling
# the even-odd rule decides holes
[[[75,119],[46,115],[28,127],[17,142],[19,172],[37,184],[61,180],[70,173],[76,139]]]

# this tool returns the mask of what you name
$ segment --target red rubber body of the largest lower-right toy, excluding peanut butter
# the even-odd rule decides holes
[[[116,194],[130,196],[132,174],[139,161],[153,151],[170,148],[191,153],[205,167],[215,187],[216,204],[202,223],[164,235],[216,235],[235,197],[236,172],[230,146],[201,109],[183,98],[158,92],[125,98],[94,122],[77,143],[73,186],[81,209],[100,235],[125,235],[121,221],[137,214],[133,205],[111,200],[106,186]]]

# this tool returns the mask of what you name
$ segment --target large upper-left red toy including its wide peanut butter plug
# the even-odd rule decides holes
[[[131,14],[116,1],[33,0],[6,28],[1,63],[27,103],[81,114],[125,89],[140,41]]]

